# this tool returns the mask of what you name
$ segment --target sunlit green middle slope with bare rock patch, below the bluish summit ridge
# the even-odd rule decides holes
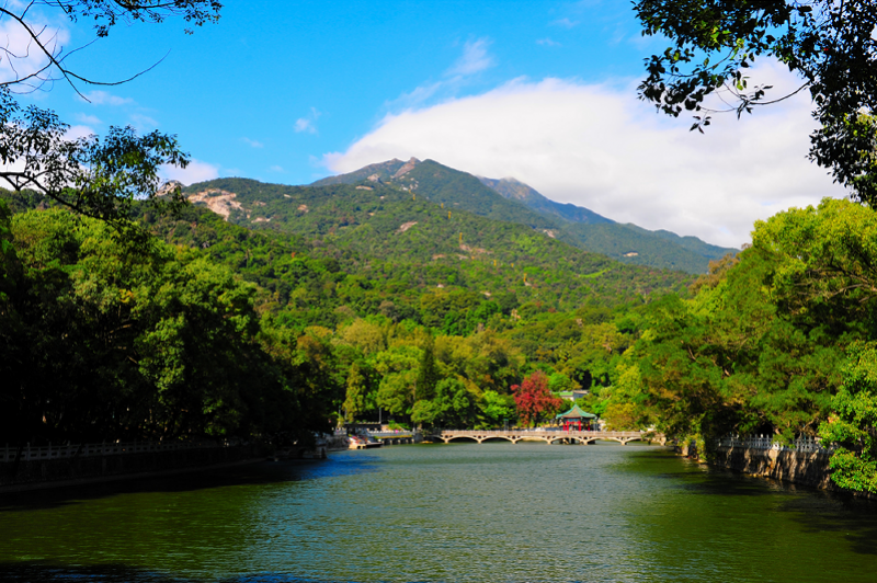
[[[449,205],[413,199],[384,181],[285,186],[220,179],[184,193],[229,222],[299,236],[368,279],[406,273],[419,285],[513,292],[521,301],[550,301],[557,309],[639,300],[690,281],[680,272],[625,265],[514,221],[456,208],[448,216]]]

